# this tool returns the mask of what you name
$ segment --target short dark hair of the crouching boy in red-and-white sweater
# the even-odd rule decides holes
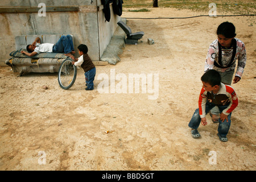
[[[221,84],[221,75],[214,69],[210,69],[205,72],[201,77],[201,81],[210,84],[211,86],[220,85]]]

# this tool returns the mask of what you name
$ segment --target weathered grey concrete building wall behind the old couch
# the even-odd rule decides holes
[[[3,64],[9,53],[15,50],[15,36],[33,34],[72,34],[76,57],[77,46],[86,44],[92,60],[100,60],[106,46],[121,18],[111,14],[110,22],[105,22],[100,0],[2,0],[0,7],[19,9],[20,6],[38,7],[46,5],[46,16],[33,13],[0,13],[0,63]],[[47,11],[47,7],[74,7],[77,11]],[[100,8],[101,7],[101,8]],[[40,8],[38,8],[40,9]],[[57,8],[56,8],[57,9]],[[112,5],[110,5],[112,10]],[[100,10],[100,11],[98,11]]]

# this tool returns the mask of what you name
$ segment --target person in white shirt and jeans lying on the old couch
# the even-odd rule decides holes
[[[35,41],[27,45],[27,52],[22,51],[21,53],[27,55],[27,56],[35,56],[38,53],[41,52],[55,52],[55,53],[63,53],[65,56],[69,56],[73,59],[74,51],[74,45],[71,35],[63,35],[60,37],[58,42],[56,44],[51,43],[42,43],[40,41],[40,38],[35,38]]]

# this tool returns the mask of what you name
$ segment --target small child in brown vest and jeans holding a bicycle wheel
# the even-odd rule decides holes
[[[84,75],[85,75],[85,83],[87,88],[85,90],[93,90],[94,89],[94,77],[96,75],[96,68],[95,65],[93,64],[92,60],[90,59],[88,55],[88,47],[85,44],[80,44],[78,47],[79,49],[79,55],[80,57],[76,59],[74,57],[73,64],[75,64],[77,67],[81,66],[82,69],[84,69]]]

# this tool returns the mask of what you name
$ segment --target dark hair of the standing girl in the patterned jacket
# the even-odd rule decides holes
[[[236,34],[236,27],[233,23],[223,22],[217,28],[217,35],[224,35],[225,38],[234,38]]]

